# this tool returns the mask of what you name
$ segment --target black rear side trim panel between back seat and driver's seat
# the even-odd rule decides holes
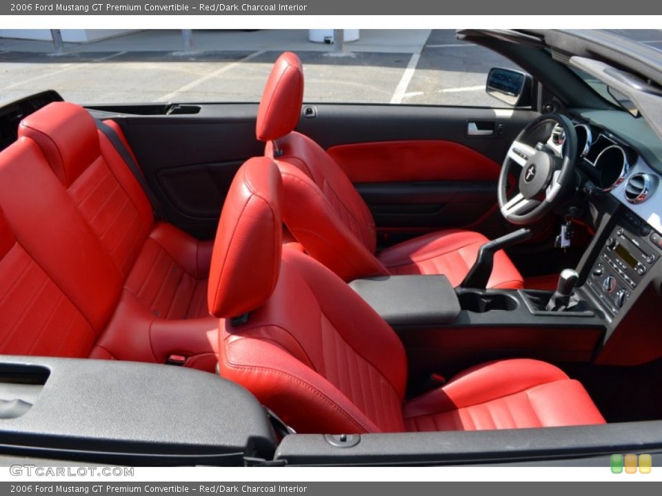
[[[121,109],[122,127],[168,220],[200,239],[216,234],[225,194],[239,166],[263,154],[255,138],[257,104],[200,104],[197,114],[150,115],[149,105]],[[127,115],[127,114],[142,115]]]

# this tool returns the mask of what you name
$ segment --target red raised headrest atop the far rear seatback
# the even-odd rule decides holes
[[[37,142],[65,187],[101,156],[94,118],[74,103],[49,103],[30,114],[21,121],[19,136]]]

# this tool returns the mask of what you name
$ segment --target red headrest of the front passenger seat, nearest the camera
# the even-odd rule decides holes
[[[241,316],[274,291],[281,268],[282,189],[270,158],[250,158],[234,176],[212,254],[207,293],[212,315]]]

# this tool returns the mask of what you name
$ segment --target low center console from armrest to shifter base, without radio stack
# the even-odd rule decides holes
[[[350,287],[398,333],[412,384],[498,358],[588,362],[605,333],[603,313],[588,304],[546,311],[551,291],[453,288],[445,276],[367,278]]]

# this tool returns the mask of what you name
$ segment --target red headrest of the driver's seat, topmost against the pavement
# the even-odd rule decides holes
[[[260,141],[290,134],[299,123],[303,103],[303,68],[292,52],[279,56],[262,92],[255,132]]]

